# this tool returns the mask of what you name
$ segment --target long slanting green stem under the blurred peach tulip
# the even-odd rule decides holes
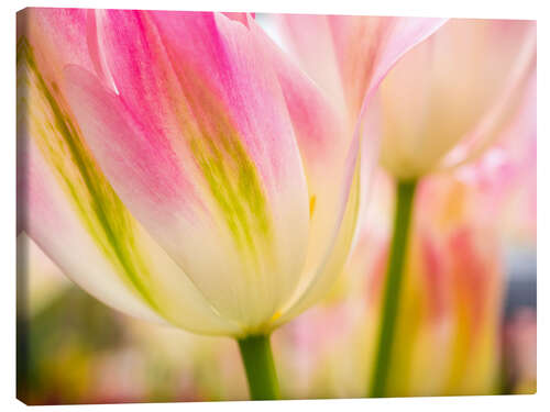
[[[386,392],[387,377],[395,336],[403,268],[407,252],[408,232],[413,214],[416,181],[397,182],[397,204],[394,215],[394,233],[389,250],[386,280],[382,301],[382,320],[375,352],[375,365],[371,379],[370,397],[382,398]]]

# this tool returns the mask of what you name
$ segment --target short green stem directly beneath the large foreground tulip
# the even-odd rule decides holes
[[[270,335],[238,339],[252,400],[279,399]]]

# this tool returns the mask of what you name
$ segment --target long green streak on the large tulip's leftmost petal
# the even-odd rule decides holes
[[[36,133],[31,133],[54,168],[78,215],[100,250],[143,300],[160,312],[144,278],[150,278],[143,257],[136,253],[132,216],[114,193],[85,146],[78,129],[64,110],[57,86],[46,83],[26,38],[18,42],[18,113]],[[28,94],[33,93],[32,98]],[[67,245],[70,247],[70,245]],[[86,264],[86,263],[85,263]],[[90,263],[92,264],[92,263]]]

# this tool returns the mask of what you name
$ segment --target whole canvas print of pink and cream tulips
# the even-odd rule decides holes
[[[535,21],[16,15],[18,398],[535,393]]]

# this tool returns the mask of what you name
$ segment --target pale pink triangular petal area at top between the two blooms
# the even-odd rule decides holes
[[[343,102],[353,123],[366,96],[396,60],[446,22],[307,14],[282,14],[279,19],[296,58],[339,105]]]

